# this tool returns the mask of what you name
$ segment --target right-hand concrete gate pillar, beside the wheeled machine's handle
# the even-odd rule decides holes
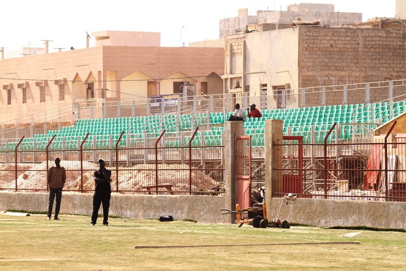
[[[282,192],[282,146],[283,121],[282,119],[266,119],[265,121],[265,204],[268,215],[271,210],[272,195]],[[269,220],[269,217],[268,217]]]

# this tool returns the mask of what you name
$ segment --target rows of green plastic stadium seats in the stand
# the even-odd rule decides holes
[[[338,134],[339,140],[349,140],[353,133],[361,133],[359,128],[353,128],[354,123],[385,123],[391,118],[406,111],[406,101],[397,101],[391,107],[388,102],[378,102],[375,104],[350,104],[350,105],[327,105],[303,108],[283,108],[262,110],[262,117],[247,118],[244,122],[244,129],[247,135],[252,136],[253,147],[263,147],[264,127],[266,119],[282,119],[284,134],[301,135],[303,143],[312,142],[312,129],[314,126],[314,142],[323,143],[324,137],[334,123],[345,125],[345,129]],[[191,131],[192,127],[209,125],[210,131],[198,132],[192,141],[193,146],[200,146],[202,142],[206,146],[221,145],[221,130],[224,129],[224,121],[232,112],[210,112],[193,114],[171,115],[150,115],[136,117],[115,117],[97,119],[78,119],[75,125],[62,127],[60,130],[50,130],[46,134],[35,134],[32,138],[24,138],[20,150],[45,150],[49,139],[56,135],[50,145],[51,150],[78,149],[80,143],[87,138],[84,149],[96,147],[115,147],[115,142],[124,131],[119,146],[127,144],[127,134],[129,135],[130,146],[136,146],[143,141],[144,134],[149,137],[158,137],[163,129],[168,134],[165,141],[166,146],[179,147],[181,140],[171,137],[171,133]],[[194,129],[193,129],[194,130]],[[365,131],[365,129],[364,129]],[[110,143],[112,135],[112,143]],[[329,141],[335,135],[329,137]],[[183,144],[189,144],[190,136],[184,137]],[[95,142],[95,143],[94,143]],[[9,142],[1,146],[1,150],[13,152],[16,142]],[[111,145],[112,144],[112,145]]]

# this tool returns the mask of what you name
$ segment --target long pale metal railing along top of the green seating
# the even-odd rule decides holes
[[[235,103],[243,108],[255,103],[259,109],[301,108],[328,105],[350,105],[386,102],[393,114],[393,104],[406,100],[406,80],[358,83],[307,87],[300,89],[281,89],[259,92],[244,92],[224,95],[202,95],[181,97],[171,101],[175,110],[165,111],[161,103],[160,114],[190,114],[199,112],[233,111]],[[76,101],[60,108],[12,119],[2,123],[2,138],[32,137],[33,134],[47,133],[76,123],[83,118],[109,118],[152,115],[151,99],[133,101],[103,102],[102,100]],[[173,108],[173,107],[170,107]],[[380,113],[382,113],[380,111]],[[380,118],[371,111],[371,120]]]

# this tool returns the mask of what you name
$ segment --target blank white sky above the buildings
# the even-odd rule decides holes
[[[238,16],[238,9],[286,10],[291,4],[333,4],[335,11],[362,13],[362,20],[394,17],[395,0],[3,0],[0,4],[0,47],[45,47],[49,51],[86,47],[86,33],[112,31],[160,32],[161,46],[219,38],[219,19]],[[185,26],[185,27],[182,27]],[[182,35],[181,35],[182,34]],[[90,39],[94,46],[94,38]]]

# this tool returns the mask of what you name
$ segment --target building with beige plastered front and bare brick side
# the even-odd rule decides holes
[[[299,93],[303,87],[403,79],[405,46],[402,28],[296,26],[230,35],[224,90],[260,96],[266,90]]]

